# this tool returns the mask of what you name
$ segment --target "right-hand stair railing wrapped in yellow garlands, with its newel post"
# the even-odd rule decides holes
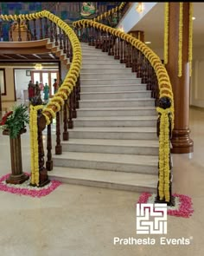
[[[169,75],[160,58],[137,38],[120,30],[113,29],[92,20],[80,20],[73,23],[80,41],[94,45],[107,52],[109,56],[125,63],[136,72],[136,76],[146,83],[151,91],[158,112],[157,135],[159,136],[159,161],[157,202],[173,204],[171,195],[170,136],[174,127],[174,100]]]

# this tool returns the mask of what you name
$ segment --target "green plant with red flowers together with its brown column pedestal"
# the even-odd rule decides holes
[[[29,123],[28,108],[23,104],[15,106],[12,111],[3,115],[0,121],[3,135],[10,136],[11,174],[6,180],[7,183],[21,184],[29,179],[28,175],[22,173],[21,148],[21,135],[26,132],[27,123]]]

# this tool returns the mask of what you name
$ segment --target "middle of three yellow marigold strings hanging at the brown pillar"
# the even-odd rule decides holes
[[[182,76],[182,13],[183,3],[179,3],[179,45],[178,45],[178,77]]]

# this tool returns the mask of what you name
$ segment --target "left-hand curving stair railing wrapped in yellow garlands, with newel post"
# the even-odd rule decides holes
[[[54,94],[54,97],[48,104],[42,105],[41,98],[36,96],[33,98],[32,104],[30,105],[30,184],[32,186],[43,187],[48,183],[48,171],[53,169],[51,124],[55,118],[55,154],[61,154],[61,133],[63,140],[67,141],[67,128],[73,128],[72,119],[76,117],[76,108],[79,108],[81,67],[80,41],[67,23],[64,23],[61,18],[54,16],[54,14],[50,13],[48,10],[19,16],[1,15],[0,18],[3,20],[3,23],[10,21],[16,22],[16,30],[14,31],[17,31],[19,42],[23,41],[22,31],[26,31],[26,37],[29,41],[49,38],[47,44],[48,49],[53,52],[60,51],[70,62],[67,75],[61,83],[60,89],[58,89],[57,93]],[[32,25],[31,30],[24,30],[30,29]],[[22,28],[20,33],[18,32],[19,28]],[[14,31],[11,30],[10,39],[14,37]],[[64,122],[63,127],[61,123],[62,119]],[[47,161],[45,163],[42,131],[46,127],[48,128],[48,152]]]

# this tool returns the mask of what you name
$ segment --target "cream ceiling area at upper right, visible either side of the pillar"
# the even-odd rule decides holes
[[[145,3],[144,3],[145,4]],[[143,30],[145,41],[150,41],[151,49],[163,49],[164,4],[156,5],[131,30]],[[204,3],[193,3],[195,17],[193,23],[194,48],[204,47]]]

